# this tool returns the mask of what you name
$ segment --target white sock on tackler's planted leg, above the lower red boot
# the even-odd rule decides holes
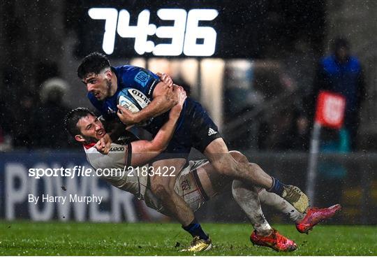
[[[272,232],[272,228],[263,215],[262,208],[258,198],[258,192],[253,186],[245,185],[239,180],[233,180],[232,183],[233,198],[238,205],[244,210],[253,228],[256,229],[258,235],[268,236]]]

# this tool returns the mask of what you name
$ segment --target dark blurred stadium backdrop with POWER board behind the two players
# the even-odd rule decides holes
[[[219,17],[200,26],[216,30],[216,51],[209,57],[140,57],[133,38],[116,37],[113,65],[130,63],[151,71],[169,73],[191,89],[191,96],[209,110],[232,148],[272,175],[305,189],[309,138],[292,134],[297,110],[311,89],[316,62],[329,52],[336,36],[346,36],[352,52],[360,58],[367,83],[362,106],[358,146],[353,153],[321,155],[323,162],[346,171],[339,180],[343,213],[333,220],[348,224],[376,223],[377,178],[377,55],[376,1],[2,1],[0,22],[0,217],[6,220],[165,220],[147,210],[133,196],[108,187],[96,178],[27,177],[30,167],[86,165],[80,146],[67,144],[61,136],[61,120],[46,124],[43,106],[45,80],[66,81],[66,108],[91,107],[85,88],[75,74],[80,59],[102,49],[103,21],[91,20],[92,7],[121,8],[138,14],[148,8],[156,22],[160,8],[214,8]],[[165,25],[167,26],[167,25]],[[171,26],[171,24],[170,24]],[[154,38],[156,40],[156,38]],[[63,87],[64,88],[64,87]],[[48,110],[53,110],[50,107]],[[37,112],[39,111],[39,112]],[[52,113],[53,114],[53,113]],[[279,117],[288,117],[280,120]],[[56,117],[55,117],[56,118]],[[261,133],[262,126],[270,131]],[[47,127],[47,129],[43,129]],[[60,130],[60,131],[59,131]],[[263,131],[263,130],[262,130]],[[266,138],[267,137],[267,138]],[[290,143],[298,139],[297,145]],[[288,143],[287,143],[288,142]],[[265,144],[269,143],[269,145]],[[281,143],[281,144],[278,144]],[[293,147],[295,146],[295,147]],[[193,153],[196,157],[197,153]],[[66,189],[66,191],[64,190]],[[68,206],[27,202],[27,194],[101,194],[105,203]],[[230,201],[230,195],[207,203],[198,212],[200,220],[239,222],[246,220]],[[330,200],[332,201],[332,200]],[[318,206],[332,203],[319,201]],[[271,221],[282,216],[264,208]]]

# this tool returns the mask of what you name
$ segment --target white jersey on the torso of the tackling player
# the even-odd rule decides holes
[[[114,187],[131,192],[138,199],[145,199],[145,190],[147,188],[148,177],[137,173],[135,168],[131,167],[132,147],[131,143],[120,145],[111,143],[108,155],[103,155],[94,147],[96,143],[84,145],[84,151],[87,155],[87,161],[96,169],[96,171],[110,173],[110,175],[101,175]],[[104,171],[104,169],[106,169]],[[117,169],[115,171],[115,169]]]

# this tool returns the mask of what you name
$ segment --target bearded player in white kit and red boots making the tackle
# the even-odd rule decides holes
[[[135,194],[139,199],[144,200],[147,206],[158,212],[170,215],[150,189],[149,175],[157,173],[157,171],[150,169],[153,167],[140,168],[138,166],[147,164],[150,159],[166,148],[175,129],[184,98],[185,94],[181,92],[179,104],[170,110],[168,122],[161,127],[153,140],[128,138],[123,143],[112,143],[108,155],[103,155],[96,149],[96,147],[98,148],[96,145],[101,144],[99,140],[105,135],[103,124],[86,108],[72,110],[66,117],[66,128],[76,141],[83,143],[88,162],[94,169],[118,169],[118,171],[113,170],[112,175],[103,176],[104,180],[119,189]],[[240,152],[232,151],[230,154],[239,162],[248,162]],[[125,166],[128,170],[126,173],[122,173]],[[161,176],[163,173],[169,175],[171,172],[169,169],[172,168],[167,167],[160,171]],[[297,248],[297,245],[269,226],[260,208],[260,201],[288,214],[290,219],[296,223],[297,230],[302,233],[312,229],[321,220],[332,217],[340,209],[340,206],[337,205],[323,209],[309,208],[306,214],[299,213],[290,203],[276,194],[245,185],[240,180],[219,175],[206,160],[188,162],[188,166],[175,174],[177,175],[175,192],[194,211],[198,210],[205,201],[220,194],[224,189],[228,189],[226,185],[232,184],[232,194],[235,200],[254,227],[250,238],[251,242],[278,251],[292,251]],[[211,247],[212,244],[201,250],[209,250]]]

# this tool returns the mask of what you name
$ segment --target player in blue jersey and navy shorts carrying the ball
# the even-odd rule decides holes
[[[144,129],[154,136],[168,120],[167,111],[177,103],[173,94],[175,86],[171,85],[170,78],[162,76],[161,80],[151,71],[136,66],[112,67],[108,57],[98,52],[91,53],[82,60],[77,69],[77,76],[87,86],[87,96],[94,107],[101,112],[105,120],[115,124],[110,133],[101,138],[102,144],[98,146],[98,150],[102,152],[106,152],[111,139],[117,138],[119,131],[124,130],[124,125],[123,129],[119,127],[119,120],[131,126],[153,118]],[[138,113],[131,113],[126,108],[118,106],[117,95],[126,87],[138,89],[145,94],[151,100],[149,105]],[[301,213],[309,207],[309,199],[298,187],[284,185],[265,173],[257,164],[238,162],[234,159],[207,112],[200,103],[187,98],[168,148],[154,159],[155,170],[163,166],[174,166],[175,171],[181,171],[191,148],[202,152],[219,175],[241,180],[251,187],[255,185],[274,192]],[[188,250],[194,252],[206,250],[211,245],[211,240],[195,219],[193,210],[181,196],[175,193],[175,177],[155,175],[150,178],[150,183],[151,191],[158,196],[168,213],[193,236],[193,242]],[[269,236],[260,236],[260,238],[266,237],[276,238],[273,231]]]

